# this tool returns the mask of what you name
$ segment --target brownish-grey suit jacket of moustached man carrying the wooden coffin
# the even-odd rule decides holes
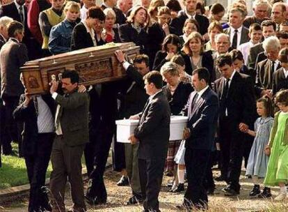
[[[70,93],[68,96],[56,97],[56,103],[61,105],[61,130],[63,142],[67,146],[78,146],[86,144],[88,137],[88,93]]]

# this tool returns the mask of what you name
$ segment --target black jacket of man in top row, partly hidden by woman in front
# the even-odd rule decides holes
[[[181,10],[178,17],[171,20],[170,26],[175,28],[175,34],[177,36],[181,36],[183,34],[183,27],[186,19],[188,19],[188,16],[184,12],[184,10]],[[199,24],[199,32],[202,36],[205,35],[209,27],[209,20],[207,19],[207,17],[198,14],[195,15],[195,20]]]

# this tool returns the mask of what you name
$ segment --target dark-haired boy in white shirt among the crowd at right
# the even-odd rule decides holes
[[[238,50],[240,50],[243,54],[244,63],[247,66],[248,65],[248,54],[250,47],[253,47],[254,45],[258,44],[262,40],[262,28],[259,24],[254,23],[251,24],[249,27],[249,34],[248,34],[250,40],[247,43],[243,43],[239,45]]]

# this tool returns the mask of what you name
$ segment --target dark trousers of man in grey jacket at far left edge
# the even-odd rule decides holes
[[[12,153],[11,142],[17,142],[21,146],[19,140],[20,132],[18,132],[17,122],[13,119],[13,111],[19,104],[19,97],[3,96],[3,119],[5,125],[3,126],[3,133],[1,137],[3,154],[10,155]],[[20,149],[20,148],[19,148]],[[21,152],[21,151],[19,151]]]

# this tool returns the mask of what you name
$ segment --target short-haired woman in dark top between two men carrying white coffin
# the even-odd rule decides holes
[[[169,102],[171,115],[179,115],[182,112],[182,108],[186,105],[193,88],[190,83],[180,81],[179,66],[174,62],[165,63],[161,67],[160,72],[164,81],[167,82],[166,86],[163,86],[163,93]],[[174,162],[174,158],[180,143],[181,140],[169,141],[168,156],[166,158],[166,172],[173,173],[175,177],[177,176],[177,165]],[[170,191],[180,192],[182,190],[184,190],[184,184],[178,185],[177,178],[175,178]]]

